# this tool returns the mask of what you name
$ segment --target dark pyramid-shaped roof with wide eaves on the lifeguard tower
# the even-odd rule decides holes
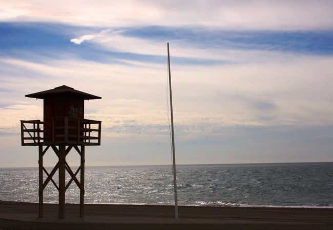
[[[26,95],[26,97],[45,99],[45,98],[48,98],[50,96],[55,96],[55,95],[72,95],[72,96],[82,98],[84,100],[101,99],[101,97],[98,97],[98,96],[95,96],[92,94],[87,94],[85,92],[76,90],[67,85],[61,85],[59,87],[55,87],[54,89],[49,89],[49,90],[41,91],[41,92],[34,93],[34,94],[28,94],[28,95]]]

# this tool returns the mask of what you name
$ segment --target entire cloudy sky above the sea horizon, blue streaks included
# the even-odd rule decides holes
[[[0,167],[37,167],[25,95],[68,85],[102,97],[87,166],[333,162],[332,1],[0,0]],[[55,165],[49,151],[45,165]],[[78,165],[78,154],[68,162]]]

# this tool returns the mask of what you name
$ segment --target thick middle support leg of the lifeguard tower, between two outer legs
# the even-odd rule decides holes
[[[59,217],[65,217],[66,146],[59,146]]]

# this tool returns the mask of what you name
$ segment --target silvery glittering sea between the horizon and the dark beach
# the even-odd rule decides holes
[[[333,163],[179,165],[177,180],[180,205],[333,208]],[[0,200],[38,202],[38,169],[0,168]],[[51,182],[44,202],[58,202]],[[79,202],[74,182],[66,202]],[[85,203],[172,205],[172,168],[86,167]]]

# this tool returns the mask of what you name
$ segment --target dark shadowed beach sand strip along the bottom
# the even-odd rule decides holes
[[[163,205],[66,204],[66,218],[57,217],[57,204],[0,201],[1,229],[333,229],[333,209],[224,208]]]

